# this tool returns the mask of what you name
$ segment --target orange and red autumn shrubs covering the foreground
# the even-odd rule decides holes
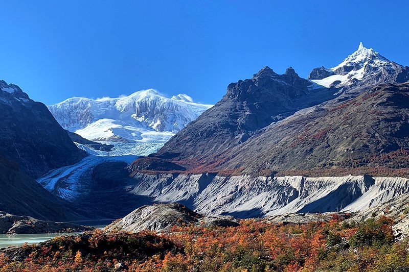
[[[6,250],[0,271],[394,271],[409,268],[406,241],[388,217],[67,236]]]

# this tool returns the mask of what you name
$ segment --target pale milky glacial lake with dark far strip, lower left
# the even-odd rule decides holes
[[[70,221],[71,223],[92,226],[94,228],[104,228],[113,220],[92,220],[92,221]],[[18,246],[24,243],[35,244],[50,240],[57,236],[76,235],[80,232],[70,233],[38,233],[38,234],[0,234],[0,248],[7,248],[8,246]]]

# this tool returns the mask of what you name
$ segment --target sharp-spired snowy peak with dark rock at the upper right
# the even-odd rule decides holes
[[[325,86],[341,88],[340,91],[353,90],[359,87],[371,87],[382,83],[406,82],[409,79],[409,67],[396,62],[359,44],[358,50],[348,56],[342,63],[332,68],[315,68],[309,80]]]

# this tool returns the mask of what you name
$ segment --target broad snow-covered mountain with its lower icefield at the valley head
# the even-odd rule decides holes
[[[49,110],[68,131],[88,140],[115,142],[117,148],[103,155],[147,155],[210,107],[187,94],[168,98],[149,89],[118,98],[73,97]]]

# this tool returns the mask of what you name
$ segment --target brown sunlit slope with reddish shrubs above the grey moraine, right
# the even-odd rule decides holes
[[[368,168],[381,166],[387,175],[409,166],[408,120],[409,83],[379,86],[275,123],[219,156],[225,163],[217,167],[243,168],[256,175],[262,169],[316,169],[332,176],[337,169],[351,173],[367,167],[370,172]]]

